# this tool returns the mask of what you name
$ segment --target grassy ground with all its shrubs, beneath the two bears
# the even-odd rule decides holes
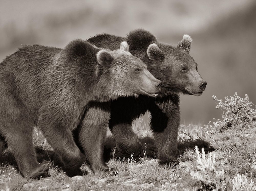
[[[85,163],[81,167],[84,176],[69,178],[61,170],[57,155],[40,131],[35,129],[38,160],[52,163],[48,176],[40,180],[23,178],[7,150],[1,158],[0,190],[255,191],[255,106],[247,95],[240,98],[237,93],[234,97],[226,97],[225,102],[213,98],[218,101],[217,108],[223,110],[223,119],[207,125],[181,125],[178,144],[180,164],[173,169],[158,165],[151,133],[141,119],[133,126],[145,145],[140,158],[115,158],[113,141],[109,141],[112,151],[107,164],[119,169],[116,177],[104,172],[94,174]],[[143,126],[143,131],[140,126]]]

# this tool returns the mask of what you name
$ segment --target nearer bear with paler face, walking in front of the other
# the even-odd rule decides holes
[[[138,94],[155,97],[161,82],[127,50],[127,42],[110,51],[78,39],[64,49],[24,46],[6,57],[0,64],[0,152],[7,143],[24,176],[41,176],[49,167],[36,159],[36,125],[67,174],[77,175],[85,157],[72,130],[80,126],[80,143],[93,171],[118,173],[103,161],[109,101]]]

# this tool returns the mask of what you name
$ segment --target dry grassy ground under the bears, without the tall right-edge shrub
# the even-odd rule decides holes
[[[184,135],[184,129],[191,128],[181,128],[180,137]],[[244,190],[254,189],[255,130],[251,129],[247,132],[247,136],[240,137],[233,136],[233,132],[231,134],[229,131],[198,134],[202,130],[207,132],[209,127],[194,126],[193,131],[188,132],[191,137],[179,139],[180,164],[174,169],[165,169],[158,165],[154,152],[151,151],[154,151],[155,147],[150,136],[141,138],[141,141],[144,140],[147,145],[145,149],[147,155],[144,157],[137,160],[133,158],[123,160],[115,158],[112,153],[112,158],[107,164],[120,170],[120,174],[116,177],[103,172],[94,174],[85,163],[82,169],[88,172],[87,175],[80,177],[81,179],[69,178],[61,170],[58,157],[44,139],[41,145],[37,140],[38,160],[52,162],[48,176],[40,180],[23,178],[11,153],[6,151],[0,166],[0,188],[1,190],[214,190],[217,188],[215,183],[218,183],[220,190],[236,190],[236,188],[239,190],[239,186]],[[201,149],[198,153],[195,152],[195,145],[206,148],[204,158],[199,154]],[[214,149],[217,151],[213,151]],[[210,151],[213,151],[212,154],[209,153]],[[201,161],[210,160],[212,163],[208,167],[203,167],[205,163],[198,162],[199,158]],[[201,166],[201,169],[198,166]],[[223,174],[218,175],[217,172]]]

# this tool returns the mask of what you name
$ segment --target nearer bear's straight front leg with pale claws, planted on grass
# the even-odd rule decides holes
[[[79,143],[94,173],[103,170],[117,175],[118,169],[108,167],[103,160],[109,118],[110,103],[91,103],[79,129]]]

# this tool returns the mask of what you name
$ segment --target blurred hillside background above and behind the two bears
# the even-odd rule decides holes
[[[208,84],[200,97],[181,96],[181,123],[220,118],[212,95],[248,94],[256,104],[254,0],[0,0],[0,62],[25,44],[63,48],[75,38],[125,36],[137,28],[172,45],[183,34],[194,40],[190,55]]]

